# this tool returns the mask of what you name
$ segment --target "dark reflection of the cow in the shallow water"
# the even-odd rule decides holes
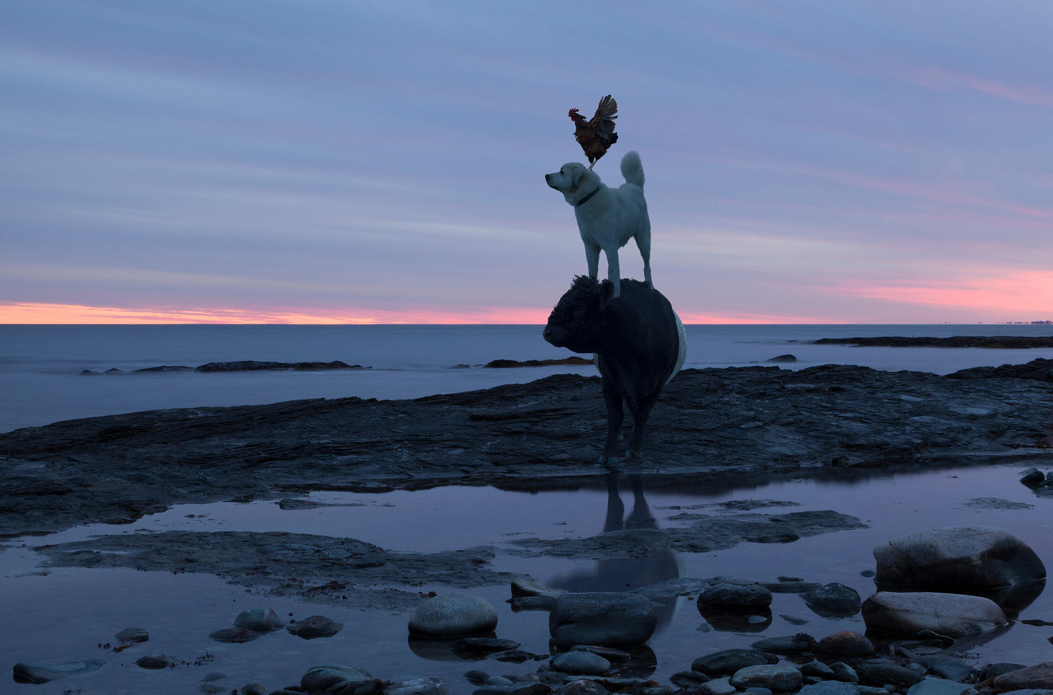
[[[603,519],[603,533],[613,531],[634,531],[637,529],[657,529],[658,522],[651,514],[648,500],[643,497],[643,482],[638,474],[628,476],[629,488],[633,494],[633,509],[625,515],[625,504],[618,492],[618,474],[611,473],[607,478],[607,516]],[[632,591],[640,587],[658,583],[680,576],[682,567],[680,558],[669,548],[656,550],[644,557],[616,558],[596,560],[591,570],[580,570],[556,577],[547,582],[556,589],[573,592],[587,591]],[[655,615],[658,626],[664,626],[676,613],[677,597],[649,596],[655,604]]]

